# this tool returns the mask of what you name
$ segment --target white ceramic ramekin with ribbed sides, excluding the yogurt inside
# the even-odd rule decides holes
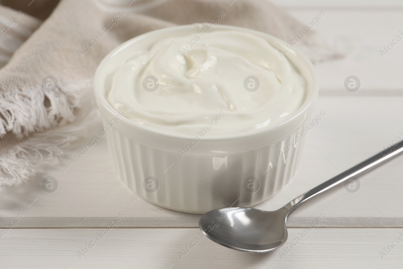
[[[253,206],[270,198],[294,175],[302,142],[283,149],[305,127],[318,95],[312,63],[299,52],[285,56],[307,81],[305,102],[288,121],[249,133],[206,136],[181,159],[178,150],[192,136],[172,136],[139,125],[112,107],[105,98],[112,74],[131,55],[128,48],[144,48],[150,40],[192,34],[199,25],[159,29],[139,35],[110,52],[94,77],[95,96],[106,131],[110,155],[120,179],[141,198],[167,209],[206,213],[228,206]],[[266,39],[275,48],[286,43],[250,29],[217,25],[211,31],[237,29]],[[116,117],[119,120],[116,121]],[[116,126],[108,125],[115,119]],[[112,126],[112,127],[110,127]]]

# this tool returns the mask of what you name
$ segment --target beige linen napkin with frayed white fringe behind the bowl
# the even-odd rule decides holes
[[[55,2],[48,0],[46,6]],[[13,3],[15,11],[0,8],[8,10],[3,17],[19,13],[21,7]],[[43,9],[37,12],[30,11],[46,17]],[[320,19],[300,23],[268,0],[61,0],[0,69],[0,186],[29,179],[97,121],[91,79],[108,52],[136,35],[173,25],[214,23],[219,14],[224,14],[221,24],[256,29],[290,42],[305,29],[307,34],[301,35],[296,48],[314,61],[323,60],[324,54],[341,56],[307,28]],[[37,19],[25,14],[21,25],[23,19],[29,31],[36,29]]]

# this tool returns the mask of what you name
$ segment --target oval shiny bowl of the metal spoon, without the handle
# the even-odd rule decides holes
[[[216,209],[203,215],[199,227],[214,242],[249,252],[272,251],[287,240],[286,218],[280,211]]]

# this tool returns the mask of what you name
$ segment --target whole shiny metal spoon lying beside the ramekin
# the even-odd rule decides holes
[[[401,152],[403,141],[305,192],[278,211],[245,207],[216,209],[200,218],[199,227],[208,238],[229,248],[249,252],[275,250],[287,241],[286,221],[298,206]]]

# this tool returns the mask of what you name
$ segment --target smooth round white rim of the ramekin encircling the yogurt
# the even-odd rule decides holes
[[[178,26],[171,26],[171,27],[165,27],[165,28],[161,28],[161,29],[157,29],[154,31],[149,31],[147,33],[143,33],[141,35],[137,35],[134,38],[131,38],[125,42],[123,42],[122,44],[120,44],[119,46],[117,46],[116,48],[114,48],[114,50],[112,50],[111,52],[109,52],[100,62],[100,64],[98,65],[96,72],[94,74],[94,79],[93,79],[93,88],[94,88],[94,94],[95,94],[95,99],[96,99],[96,103],[99,105],[102,105],[104,108],[106,108],[106,110],[111,113],[114,116],[118,116],[120,117],[120,121],[123,121],[125,123],[127,123],[128,125],[130,125],[131,127],[139,130],[139,131],[145,131],[145,132],[150,132],[150,133],[154,133],[156,135],[159,136],[164,136],[166,138],[176,138],[176,139],[184,139],[184,140],[193,140],[195,138],[195,136],[197,136],[195,134],[195,136],[189,136],[189,135],[183,135],[183,134],[173,134],[173,133],[165,133],[163,130],[158,130],[156,128],[152,128],[152,127],[147,127],[144,125],[140,125],[137,124],[134,121],[131,121],[130,119],[126,118],[126,117],[122,117],[122,115],[119,113],[119,111],[116,110],[116,108],[112,107],[110,105],[110,103],[108,102],[108,100],[106,100],[106,95],[104,93],[102,93],[101,91],[101,82],[104,83],[105,79],[101,79],[101,75],[100,73],[102,72],[102,68],[108,64],[109,59],[114,56],[116,53],[120,53],[121,49],[126,48],[127,46],[130,46],[131,44],[142,40],[143,38],[147,38],[148,35],[158,35],[161,32],[166,32],[166,31],[177,31],[180,29],[187,29],[187,28],[191,28],[191,27],[197,27],[197,26],[202,26],[202,25],[207,25],[208,23],[193,23],[193,24],[187,24],[187,25],[178,25]],[[281,40],[279,38],[274,37],[273,35],[269,35],[267,33],[261,32],[261,31],[256,31],[253,29],[249,29],[249,28],[245,28],[245,27],[237,27],[237,26],[232,26],[232,25],[216,25],[214,26],[215,30],[219,30],[223,29],[223,30],[241,30],[241,31],[248,31],[250,33],[254,33],[256,35],[264,35],[266,37],[269,38],[269,40],[274,40],[275,42],[281,44],[281,45],[288,45],[287,42],[285,42],[284,40]],[[269,42],[269,40],[267,40]],[[215,136],[204,136],[202,138],[200,138],[201,140],[207,140],[207,141],[219,141],[219,140],[230,140],[230,139],[238,139],[238,138],[246,138],[246,137],[251,137],[251,136],[255,136],[255,135],[261,135],[263,133],[270,133],[272,131],[278,130],[281,127],[283,127],[283,125],[287,125],[287,124],[291,124],[291,121],[293,121],[294,119],[298,118],[302,113],[304,113],[310,106],[311,104],[314,102],[314,100],[316,99],[316,97],[318,96],[318,91],[319,91],[319,80],[318,80],[318,74],[316,72],[316,69],[314,68],[314,65],[312,64],[312,62],[301,52],[299,52],[299,50],[296,50],[294,48],[291,48],[287,54],[294,54],[294,56],[298,57],[299,60],[301,61],[301,63],[303,65],[305,65],[305,67],[307,67],[307,71],[310,73],[311,77],[312,77],[312,89],[310,91],[309,96],[307,96],[307,98],[305,99],[305,102],[301,105],[301,107],[295,111],[293,114],[291,114],[291,117],[289,117],[289,119],[287,119],[286,121],[280,121],[274,125],[270,125],[267,127],[263,127],[260,129],[253,129],[251,131],[246,131],[246,132],[241,132],[241,133],[235,133],[235,134],[226,134],[226,135],[215,135]],[[285,55],[285,57],[287,57],[287,55]],[[297,69],[297,71],[300,71],[301,68],[295,67]],[[304,75],[300,74],[301,76],[304,77],[305,80],[307,80],[307,77],[305,77]],[[99,107],[98,107],[99,108]],[[99,108],[101,115],[102,115],[102,110]],[[304,117],[304,120],[306,119],[306,117]]]

